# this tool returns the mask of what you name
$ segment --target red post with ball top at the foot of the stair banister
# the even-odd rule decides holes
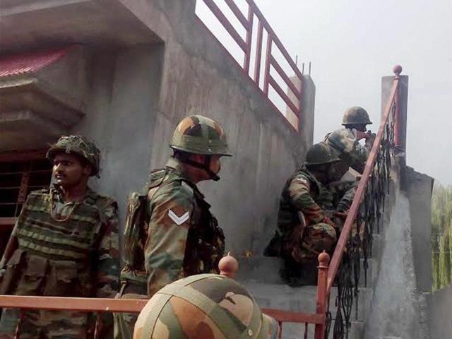
[[[326,314],[326,300],[328,298],[328,265],[330,263],[330,256],[326,251],[319,254],[319,276],[317,279],[317,300],[316,300],[316,313],[319,315]],[[314,339],[323,339],[325,336],[326,318],[323,323],[316,324],[316,330],[314,333]]]

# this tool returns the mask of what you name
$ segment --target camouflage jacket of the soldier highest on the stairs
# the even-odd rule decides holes
[[[347,167],[352,167],[362,173],[370,149],[367,145],[363,146],[359,143],[351,129],[336,129],[328,133],[324,141],[338,151],[340,158],[347,163]]]

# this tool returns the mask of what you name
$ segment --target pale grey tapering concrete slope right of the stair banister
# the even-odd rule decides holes
[[[427,301],[416,286],[410,202],[403,192],[396,194],[364,338],[428,339]]]

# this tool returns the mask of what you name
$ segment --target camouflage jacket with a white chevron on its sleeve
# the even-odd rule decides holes
[[[137,286],[133,292],[147,291],[151,297],[180,278],[218,273],[225,242],[210,205],[196,185],[184,177],[178,160],[171,158],[165,169],[153,171],[149,182],[143,267],[123,268],[121,281],[135,280],[133,283],[139,285],[136,277],[144,273],[147,287],[143,290]]]

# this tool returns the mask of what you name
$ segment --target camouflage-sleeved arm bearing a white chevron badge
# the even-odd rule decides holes
[[[149,297],[183,276],[193,200],[183,190],[173,189],[155,198],[150,211],[144,249]]]

